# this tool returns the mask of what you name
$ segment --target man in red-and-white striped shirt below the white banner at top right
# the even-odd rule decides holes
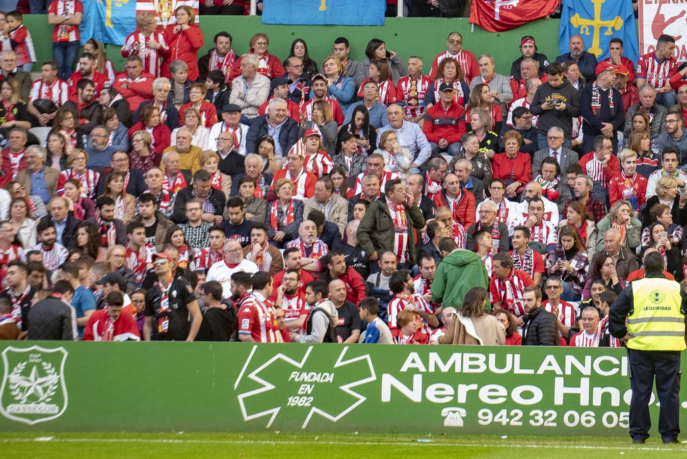
[[[656,49],[640,56],[637,61],[637,87],[647,83],[656,88],[657,103],[669,108],[677,98],[671,87],[671,78],[677,72],[677,60],[673,56],[675,38],[662,34],[658,37]]]

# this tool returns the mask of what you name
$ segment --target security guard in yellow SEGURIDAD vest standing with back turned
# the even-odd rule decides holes
[[[613,302],[609,311],[609,330],[627,346],[633,443],[644,443],[649,438],[649,399],[654,377],[661,403],[658,432],[663,443],[677,443],[680,351],[686,348],[687,295],[680,284],[664,277],[664,260],[659,252],[644,257],[644,270],[646,277],[625,287]]]

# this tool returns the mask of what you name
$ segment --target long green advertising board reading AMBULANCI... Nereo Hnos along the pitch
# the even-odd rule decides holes
[[[631,391],[623,349],[183,342],[2,346],[3,432],[627,437]],[[685,388],[680,403],[687,425]],[[656,425],[655,397],[651,413]]]

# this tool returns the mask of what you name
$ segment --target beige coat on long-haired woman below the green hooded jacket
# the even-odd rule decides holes
[[[451,314],[451,323],[439,344],[482,344],[483,346],[503,346],[506,344],[506,331],[493,315],[469,318],[458,313]]]

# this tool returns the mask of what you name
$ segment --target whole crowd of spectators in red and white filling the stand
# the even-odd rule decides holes
[[[117,71],[54,0],[35,81],[0,14],[1,337],[615,347],[646,257],[685,278],[673,37],[635,64],[523,36],[502,75],[458,32],[431,63],[262,33],[200,56],[175,14],[139,14]]]

